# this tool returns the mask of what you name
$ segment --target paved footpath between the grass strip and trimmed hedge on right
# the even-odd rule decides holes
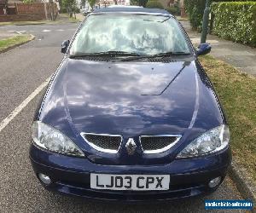
[[[188,32],[192,43],[199,44],[201,34],[191,30],[189,21],[180,22]],[[256,76],[256,49],[241,43],[233,43],[214,35],[207,36],[207,43],[212,45],[210,55],[235,66],[241,72]]]

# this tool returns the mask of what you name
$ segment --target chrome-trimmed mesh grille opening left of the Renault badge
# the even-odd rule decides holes
[[[121,135],[81,134],[90,147],[103,153],[117,153],[122,141]]]

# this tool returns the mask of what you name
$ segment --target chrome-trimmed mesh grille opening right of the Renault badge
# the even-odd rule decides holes
[[[180,135],[143,135],[140,142],[144,153],[163,153],[179,139]]]

